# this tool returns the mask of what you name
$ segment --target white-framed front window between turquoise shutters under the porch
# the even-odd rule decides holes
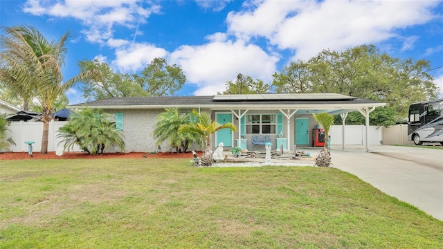
[[[246,115],[247,134],[275,134],[275,114]]]

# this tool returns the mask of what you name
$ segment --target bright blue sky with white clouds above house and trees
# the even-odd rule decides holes
[[[178,95],[213,95],[238,73],[271,83],[291,60],[374,44],[430,61],[443,89],[443,1],[0,0],[0,25],[18,24],[48,39],[70,30],[65,80],[82,59],[138,73],[163,57],[188,78]],[[78,89],[68,96],[84,102]]]

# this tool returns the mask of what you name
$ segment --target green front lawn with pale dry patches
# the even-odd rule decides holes
[[[356,162],[357,163],[357,162]],[[1,160],[0,248],[441,248],[443,222],[333,168]]]

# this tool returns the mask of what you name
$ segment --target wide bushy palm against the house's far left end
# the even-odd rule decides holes
[[[82,109],[72,113],[68,123],[60,127],[57,138],[62,138],[64,149],[74,149],[75,145],[87,154],[100,154],[106,147],[119,147],[125,151],[125,138],[116,129],[112,116],[99,109]]]

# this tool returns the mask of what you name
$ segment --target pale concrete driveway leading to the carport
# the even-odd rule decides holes
[[[315,153],[315,152],[314,152]],[[375,145],[331,148],[332,167],[443,220],[443,150]]]

